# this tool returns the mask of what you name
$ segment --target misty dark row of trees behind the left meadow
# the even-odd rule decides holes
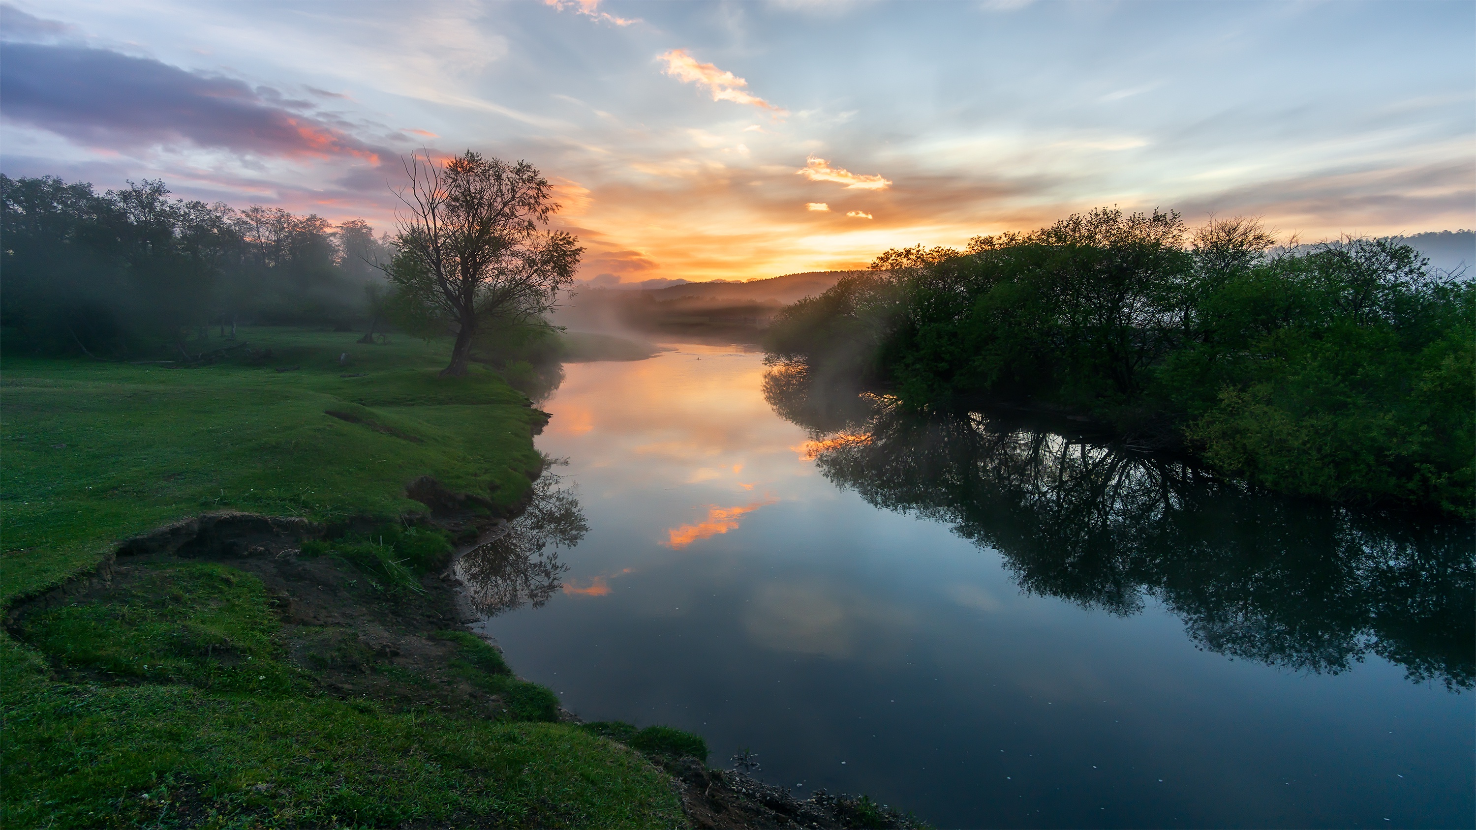
[[[162,181],[97,193],[0,174],[6,348],[123,358],[236,324],[368,323],[387,242],[362,220],[171,199]]]

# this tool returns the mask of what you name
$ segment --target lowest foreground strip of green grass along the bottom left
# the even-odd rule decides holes
[[[52,686],[6,731],[6,827],[164,824],[180,802],[217,827],[683,823],[639,755],[561,724]]]

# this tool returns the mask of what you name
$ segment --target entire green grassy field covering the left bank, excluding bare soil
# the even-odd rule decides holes
[[[363,625],[283,622],[292,582],[230,562],[140,562],[52,606],[21,603],[94,569],[120,540],[199,513],[394,522],[425,510],[404,495],[425,475],[492,512],[523,498],[540,466],[527,398],[484,367],[437,377],[441,343],[239,336],[270,357],[0,366],[0,823],[683,824],[664,774],[548,722],[552,696],[496,650],[401,625],[434,616],[430,600],[369,576],[375,562],[407,562],[396,559],[413,547],[404,538],[325,543],[300,579],[424,646],[416,665],[441,660],[434,671],[373,658],[356,640]],[[348,694],[331,675],[379,686]]]

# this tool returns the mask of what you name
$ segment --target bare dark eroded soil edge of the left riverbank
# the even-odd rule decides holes
[[[425,482],[421,484],[419,489],[422,492],[431,489],[425,487]],[[440,489],[440,492],[444,494],[446,491]],[[365,597],[359,596],[347,601],[360,606],[359,610],[368,615],[394,618],[397,622],[404,622],[413,616],[438,621],[431,625],[422,625],[422,630],[418,631],[421,635],[446,638],[446,631],[456,631],[478,637],[486,643],[484,637],[477,635],[469,628],[469,624],[480,619],[480,616],[466,599],[465,585],[455,576],[455,562],[466,551],[496,538],[499,535],[497,529],[506,528],[511,520],[515,520],[525,510],[527,501],[524,498],[512,509],[492,516],[469,512],[443,513],[440,517],[432,517],[431,513],[400,516],[399,520],[401,523],[455,532],[463,540],[471,535],[469,531],[472,528],[477,532],[472,541],[459,545],[459,550],[452,553],[441,568],[422,578],[424,594],[394,600],[379,599],[376,601],[363,601]],[[124,571],[148,565],[168,566],[170,563],[186,562],[214,562],[264,578],[269,590],[276,596],[276,610],[283,622],[291,625],[294,615],[301,616],[306,609],[297,607],[291,601],[295,597],[289,597],[288,594],[307,594],[307,591],[300,590],[304,587],[303,584],[297,585],[298,590],[282,590],[286,585],[279,579],[267,576],[267,572],[301,565],[298,559],[301,557],[304,541],[342,538],[351,525],[368,526],[370,523],[373,523],[373,519],[368,516],[360,517],[357,522],[329,526],[300,517],[263,516],[241,512],[202,513],[171,522],[151,532],[121,541],[94,568],[74,573],[62,584],[37,591],[25,599],[13,599],[3,610],[6,632],[13,637],[21,622],[31,613],[112,591],[115,581],[123,581]],[[331,590],[337,587],[332,584],[334,571],[338,571],[339,576],[354,575],[350,568],[344,566],[345,563],[317,562],[316,565],[329,566],[316,568],[308,582],[328,582]],[[322,588],[323,585],[319,585],[319,590]],[[447,603],[447,600],[450,601]],[[319,603],[313,610],[323,612],[325,604],[331,607],[335,603]],[[452,615],[446,613],[447,606],[455,609]],[[15,641],[25,643],[19,637],[15,637]],[[397,643],[385,641],[384,631],[379,631],[378,637],[369,637],[365,643],[365,647],[372,655],[366,658],[369,665],[348,666],[345,671],[337,672],[317,671],[313,672],[314,683],[325,693],[345,700],[370,697],[387,706],[438,705],[441,709],[456,706],[465,709],[462,714],[466,716],[493,719],[506,716],[506,708],[497,696],[492,696],[483,702],[478,700],[480,696],[477,691],[471,691],[471,699],[468,699],[465,690],[459,690],[462,691],[461,696],[450,694],[435,700],[410,700],[412,694],[407,694],[404,687],[381,684],[378,690],[368,690],[365,684],[354,683],[357,680],[354,675],[384,674],[399,668],[394,663],[397,662],[396,658],[401,653],[400,647],[404,647],[404,640]],[[500,655],[500,649],[494,643],[487,644]],[[455,660],[458,655],[458,650],[447,649],[443,658],[446,658],[446,663],[449,665],[449,660]],[[297,656],[301,658],[301,655]],[[437,674],[446,674],[447,665],[440,666]],[[521,677],[517,677],[517,680],[528,683]],[[559,706],[558,722],[573,727],[586,725],[579,715],[562,706]],[[832,796],[819,790],[807,799],[797,799],[787,789],[763,784],[747,774],[707,767],[706,758],[672,750],[669,743],[661,746],[633,746],[641,742],[620,740],[611,734],[611,725],[621,724],[589,724],[589,731],[604,740],[620,744],[629,752],[645,756],[646,761],[661,770],[669,778],[670,787],[679,796],[682,812],[694,827],[925,827],[915,817],[903,815],[865,796]],[[698,743],[701,743],[700,739]],[[193,823],[189,817],[204,817],[210,812],[211,805],[210,799],[202,796],[204,789],[196,787],[195,790],[176,792],[173,801],[164,799],[159,803],[161,806],[173,806],[176,815],[184,818],[184,824],[190,826]],[[475,818],[489,817],[468,815],[458,820]]]

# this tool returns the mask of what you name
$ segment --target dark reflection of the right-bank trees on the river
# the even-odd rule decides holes
[[[1154,597],[1201,647],[1292,671],[1373,652],[1415,683],[1473,684],[1470,525],[1252,492],[1020,417],[909,413],[796,364],[769,369],[765,397],[810,430],[827,479],[952,523],[1027,593],[1116,615]]]

